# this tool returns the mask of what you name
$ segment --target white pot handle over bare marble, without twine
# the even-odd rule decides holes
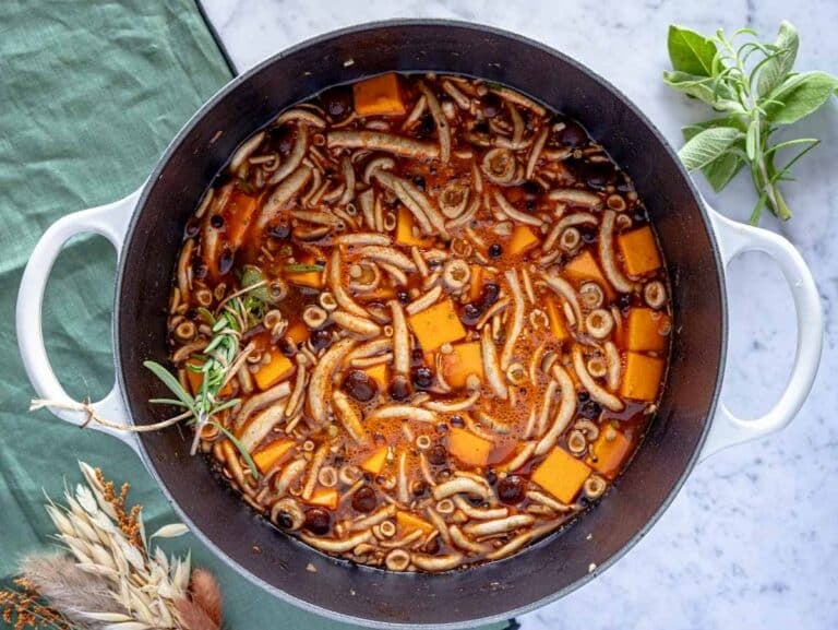
[[[812,272],[794,246],[773,231],[731,221],[711,207],[708,209],[726,268],[731,260],[745,251],[765,252],[779,265],[794,301],[798,344],[786,389],[764,416],[754,419],[740,418],[719,401],[701,459],[785,428],[794,418],[812,390],[824,342],[824,322],[817,286]]]

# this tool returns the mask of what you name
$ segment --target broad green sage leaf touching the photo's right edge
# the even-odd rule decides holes
[[[824,105],[838,90],[838,79],[821,71],[801,72],[786,79],[768,95],[763,109],[774,124],[791,124]]]

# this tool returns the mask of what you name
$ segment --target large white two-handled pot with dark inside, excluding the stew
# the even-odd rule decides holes
[[[280,109],[326,86],[391,70],[482,76],[561,109],[606,146],[646,201],[672,278],[675,333],[660,412],[613,491],[579,523],[503,561],[445,574],[391,573],[337,561],[277,533],[224,490],[200,457],[189,456],[180,431],[139,439],[109,432],[137,452],[183,521],[218,557],[277,597],[369,626],[478,625],[531,610],[602,572],[655,523],[699,459],[787,425],[810,391],[821,355],[817,292],[800,254],[778,236],[707,207],[655,127],[576,61],[516,35],[442,21],[352,27],[277,55],[202,107],[140,190],[65,216],[46,231],[23,276],[17,334],[38,395],[65,400],[41,337],[44,287],[70,237],[105,235],[119,253],[117,379],[95,407],[117,421],[160,419],[160,409],[146,403],[160,393],[160,384],[142,362],[166,360],[170,277],[183,225],[201,194],[236,146]],[[774,258],[798,312],[791,378],[776,406],[754,420],[741,420],[717,404],[727,342],[725,270],[745,250]],[[85,419],[58,415],[75,424]],[[589,534],[596,543],[586,539]],[[316,572],[306,570],[308,564]]]

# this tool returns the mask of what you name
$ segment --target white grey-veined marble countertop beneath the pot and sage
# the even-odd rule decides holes
[[[682,124],[705,117],[660,80],[667,27],[701,32],[753,26],[774,38],[781,19],[801,34],[798,67],[838,73],[838,2],[805,10],[778,0],[536,2],[505,0],[204,0],[240,69],[313,35],[390,17],[450,17],[517,32],[608,78],[675,145]],[[806,119],[802,135],[824,143],[786,186],[795,216],[763,225],[791,239],[812,266],[827,338],[810,400],[783,432],[699,464],[651,532],[599,579],[519,619],[526,630],[585,627],[833,629],[838,626],[838,100]],[[721,194],[702,190],[722,214],[754,204],[742,174]],[[731,347],[723,397],[754,416],[776,400],[794,353],[788,288],[767,257],[737,260],[729,278]]]

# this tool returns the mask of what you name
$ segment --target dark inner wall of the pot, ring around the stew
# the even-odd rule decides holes
[[[152,177],[121,263],[117,359],[134,421],[160,419],[160,409],[146,403],[163,393],[160,384],[142,362],[166,358],[170,277],[201,194],[235,147],[279,110],[326,86],[391,70],[471,74],[532,95],[580,120],[634,180],[669,263],[678,332],[659,416],[627,472],[575,525],[510,559],[448,574],[397,574],[337,562],[276,532],[225,490],[201,457],[187,454],[177,429],[142,433],[142,443],[146,463],[193,528],[277,591],[367,622],[463,625],[554,598],[578,585],[591,562],[619,555],[680,486],[715,404],[725,307],[714,240],[672,153],[612,87],[540,45],[456,23],[348,29],[265,62],[195,117]],[[306,570],[309,563],[316,572]]]

